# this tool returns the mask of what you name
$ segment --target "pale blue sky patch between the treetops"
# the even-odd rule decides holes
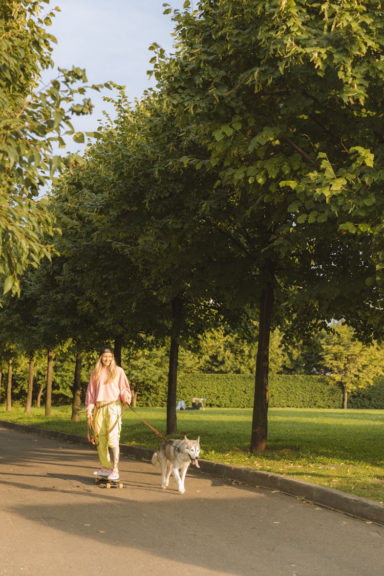
[[[166,0],[51,0],[59,6],[47,31],[56,37],[52,59],[61,68],[85,68],[89,84],[113,81],[126,86],[128,100],[140,98],[155,81],[147,76],[153,52],[148,48],[157,42],[166,52],[173,52],[172,14],[163,14]],[[168,0],[172,9],[182,9],[184,0]],[[44,81],[55,77],[50,70]],[[111,96],[109,90],[105,91]],[[87,95],[88,96],[88,95]],[[114,118],[111,104],[92,90],[95,106],[92,115],[74,117],[75,131],[96,130],[102,111]],[[81,145],[66,139],[67,151],[81,151]],[[63,151],[61,151],[63,153]]]

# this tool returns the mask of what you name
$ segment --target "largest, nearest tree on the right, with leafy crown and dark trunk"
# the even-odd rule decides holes
[[[358,309],[374,316],[381,308],[380,287],[366,290],[375,268],[379,285],[384,258],[381,6],[184,6],[174,12],[176,54],[152,47],[154,74],[166,109],[180,127],[193,123],[210,151],[185,162],[219,172],[200,217],[243,254],[242,278],[254,279],[260,321],[250,450],[263,451],[271,326],[289,322],[303,336],[332,317],[353,321]]]

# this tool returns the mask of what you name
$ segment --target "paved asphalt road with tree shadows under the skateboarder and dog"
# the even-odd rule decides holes
[[[91,446],[0,427],[0,574],[382,576],[384,527],[193,469],[184,495],[121,457],[94,483]]]

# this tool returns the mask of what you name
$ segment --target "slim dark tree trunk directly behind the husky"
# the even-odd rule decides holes
[[[168,395],[167,395],[167,434],[177,433],[176,398],[177,398],[177,365],[178,348],[180,346],[181,315],[183,301],[180,297],[172,300],[172,332],[169,351]]]

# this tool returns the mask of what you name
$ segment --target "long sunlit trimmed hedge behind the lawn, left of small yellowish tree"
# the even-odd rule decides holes
[[[167,383],[146,386],[139,393],[139,406],[165,407]],[[191,404],[192,397],[207,397],[207,406],[252,408],[254,376],[244,374],[178,374],[177,400]],[[342,408],[343,392],[325,376],[269,376],[269,407]]]

